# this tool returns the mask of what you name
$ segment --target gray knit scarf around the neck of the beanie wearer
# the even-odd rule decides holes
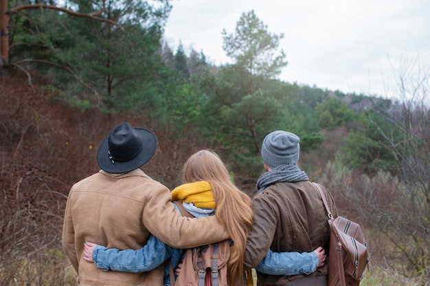
[[[257,193],[269,187],[275,182],[299,182],[307,181],[308,176],[304,171],[301,171],[297,165],[280,165],[262,174],[257,180]]]

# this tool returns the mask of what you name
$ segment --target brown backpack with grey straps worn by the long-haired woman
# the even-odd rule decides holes
[[[177,204],[181,214],[194,217]],[[172,286],[227,286],[227,261],[230,257],[228,240],[185,250],[181,272],[176,281],[170,266],[170,283]]]

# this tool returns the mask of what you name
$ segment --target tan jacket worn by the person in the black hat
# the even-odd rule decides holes
[[[100,171],[73,185],[65,209],[63,248],[80,285],[163,285],[164,265],[150,272],[103,271],[84,261],[85,241],[108,248],[142,248],[150,234],[174,248],[191,248],[229,236],[216,217],[182,217],[170,191],[136,169]]]

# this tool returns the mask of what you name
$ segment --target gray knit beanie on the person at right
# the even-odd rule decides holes
[[[297,165],[299,142],[299,136],[291,132],[277,130],[267,134],[261,147],[263,163],[271,168],[280,165]]]

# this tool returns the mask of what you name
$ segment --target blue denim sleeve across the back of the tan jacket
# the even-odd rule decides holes
[[[154,270],[166,259],[170,258],[173,251],[174,248],[152,236],[146,246],[139,250],[119,250],[117,248],[95,246],[93,261],[95,266],[103,270],[133,273],[146,272]]]

